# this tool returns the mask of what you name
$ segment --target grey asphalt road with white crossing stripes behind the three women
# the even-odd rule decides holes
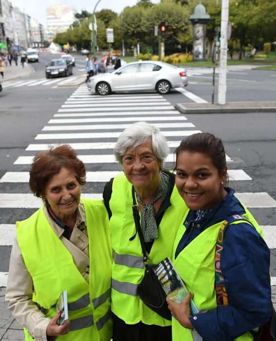
[[[40,54],[39,57],[39,63],[32,64],[35,73],[24,80],[45,77],[45,64],[53,58],[53,55]],[[76,57],[74,76],[81,76],[85,73],[83,70],[85,58],[85,56]],[[229,170],[233,172],[232,174],[238,170],[243,172],[241,178],[235,173],[233,178],[236,180],[231,181],[231,185],[243,195],[246,202],[251,200],[250,210],[258,223],[266,228],[265,238],[271,249],[272,277],[276,278],[274,237],[276,228],[274,221],[276,213],[276,114],[181,115],[173,108],[176,103],[192,102],[193,99],[198,100],[199,97],[210,101],[211,98],[210,70],[199,68],[187,71],[190,74],[190,84],[185,90],[188,91],[189,97],[177,91],[166,96],[155,93],[108,97],[89,96],[85,86],[79,89],[56,88],[55,83],[49,86],[43,86],[43,84],[10,86],[0,94],[0,286],[5,286],[14,224],[17,220],[27,218],[37,207],[31,196],[24,199],[24,195],[30,194],[27,177],[23,176],[27,175],[29,170],[30,157],[39,148],[46,148],[47,144],[58,142],[78,144],[75,148],[78,154],[85,158],[87,171],[93,172],[91,180],[83,188],[83,193],[100,196],[105,183],[103,178],[106,179],[110,174],[106,172],[120,170],[120,167],[109,156],[112,155],[110,145],[114,144],[117,139],[112,134],[119,134],[124,124],[142,119],[160,125],[171,143],[171,153],[183,136],[193,131],[215,133],[222,138],[230,158]],[[247,69],[229,71],[227,100],[228,98],[229,100],[231,98],[231,101],[273,100],[275,96],[273,91],[276,90],[275,76],[276,73],[274,75],[267,71]],[[98,104],[92,103],[91,113],[82,113],[81,105],[78,116],[74,113],[67,113],[62,108],[69,97],[72,101],[80,101],[84,95],[88,95],[87,99],[91,101],[99,101]],[[109,104],[112,100],[122,103],[128,101],[128,98],[132,99],[129,108],[122,107],[115,111],[112,104],[105,112],[101,108],[101,103]],[[159,104],[156,106],[150,101],[158,101]],[[57,113],[59,117],[54,116]],[[69,129],[69,122],[56,121],[56,119],[84,118],[91,118],[93,123],[70,122],[70,126],[74,124],[75,127]],[[49,122],[51,119],[54,121]],[[185,123],[191,123],[191,125],[186,127]],[[79,130],[77,126],[83,125],[93,125],[93,127]],[[53,126],[58,127],[57,130],[52,130]],[[90,136],[80,135],[82,133],[89,133]],[[97,133],[99,134],[94,135]],[[95,147],[93,143],[99,145]],[[107,143],[110,145],[108,146]],[[172,167],[173,163],[169,162],[167,166]],[[246,178],[244,174],[249,178]],[[260,195],[260,193],[264,194]],[[276,282],[274,284],[276,285]]]

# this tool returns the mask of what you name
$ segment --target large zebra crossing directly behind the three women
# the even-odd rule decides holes
[[[13,169],[0,178],[0,250],[5,247],[10,252],[16,221],[27,218],[42,204],[28,187],[27,170],[37,152],[56,143],[70,144],[86,164],[87,184],[82,189],[82,197],[99,199],[102,198],[105,183],[121,170],[113,155],[119,134],[131,123],[141,120],[158,126],[166,136],[170,147],[166,159],[168,168],[173,166],[173,151],[181,139],[201,132],[159,94],[110,95],[103,98],[91,95],[85,86],[76,89],[37,133],[23,155],[18,156]],[[235,155],[227,155],[230,181],[252,184],[254,179],[249,174],[231,167],[231,157]],[[267,192],[238,192],[237,196],[249,209],[276,208],[276,200]],[[258,220],[258,216],[256,218]],[[268,246],[275,249],[276,226],[262,226],[262,229]],[[7,272],[8,265],[0,263],[0,287],[6,286]],[[276,277],[272,277],[272,285],[276,285]]]

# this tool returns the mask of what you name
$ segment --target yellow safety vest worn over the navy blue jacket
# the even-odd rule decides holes
[[[263,237],[263,232],[252,214],[240,203],[247,218]],[[184,220],[177,232],[173,247],[173,263],[176,271],[182,278],[188,291],[194,293],[194,303],[200,310],[213,310],[217,307],[215,291],[215,247],[219,230],[223,221],[205,229],[190,244],[188,244],[175,259],[176,248],[186,230],[184,221],[189,210],[185,214]],[[233,222],[232,224],[239,224]],[[208,328],[208,326],[206,326]],[[172,340],[173,341],[193,341],[193,333],[190,329],[184,328],[176,319],[172,319]],[[198,340],[195,338],[195,340]],[[247,332],[235,339],[237,341],[252,341],[253,337]]]

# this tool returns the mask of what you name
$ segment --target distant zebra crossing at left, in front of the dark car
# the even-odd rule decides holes
[[[3,88],[20,88],[20,87],[29,87],[29,86],[53,86],[53,85],[69,85],[70,83],[74,83],[74,81],[78,77],[59,77],[54,79],[49,78],[37,78],[37,79],[28,79],[28,80],[10,80],[10,81],[4,81],[2,83]]]

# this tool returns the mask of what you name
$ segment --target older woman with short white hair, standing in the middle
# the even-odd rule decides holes
[[[140,237],[149,263],[172,257],[187,208],[175,187],[174,174],[163,170],[169,147],[159,128],[146,122],[130,125],[119,136],[114,153],[124,172],[112,178],[103,193],[113,249],[113,341],[168,341],[172,339],[171,318],[150,309],[137,294],[145,274]],[[140,209],[142,233],[137,233],[133,205]]]

